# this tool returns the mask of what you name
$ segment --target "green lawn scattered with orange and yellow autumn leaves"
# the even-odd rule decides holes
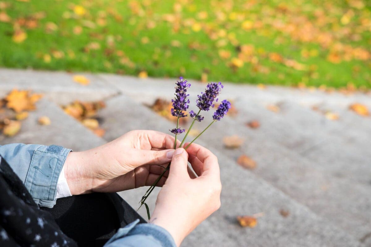
[[[366,89],[371,1],[0,0],[0,66]]]

